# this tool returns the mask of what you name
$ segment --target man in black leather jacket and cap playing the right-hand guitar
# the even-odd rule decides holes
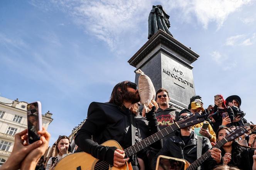
[[[183,120],[185,117],[192,113],[188,109],[182,110],[178,115],[178,120]],[[189,163],[193,163],[197,160],[197,135],[192,131],[191,127],[180,129],[178,136],[173,136],[167,139],[163,148],[154,158],[154,167],[157,163],[157,157],[159,155],[165,155],[174,158],[183,158]],[[202,139],[202,154],[211,149],[212,145],[208,138]],[[212,169],[215,165],[221,162],[221,150],[218,148],[212,148],[209,150],[211,157],[209,157],[201,165],[201,170]]]

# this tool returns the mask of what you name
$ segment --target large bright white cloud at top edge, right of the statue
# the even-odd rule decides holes
[[[217,23],[217,29],[221,28],[227,17],[251,0],[169,0],[160,1],[165,9],[181,9],[182,20],[191,22],[191,15],[195,15],[199,23],[207,29],[210,22]]]

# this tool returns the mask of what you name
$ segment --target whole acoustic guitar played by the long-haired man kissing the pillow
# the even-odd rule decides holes
[[[187,116],[184,120],[179,122],[175,122],[172,125],[160,130],[159,132],[151,135],[150,137],[141,140],[141,142],[135,143],[131,147],[126,148],[125,151],[125,158],[128,158],[135,153],[147,148],[152,143],[157,142],[158,140],[166,137],[170,133],[178,130],[180,128],[190,127],[192,125],[196,125],[197,123],[204,122],[207,115],[203,114],[200,115],[199,113],[195,113],[193,115]],[[117,147],[120,150],[123,148],[119,145],[118,142],[115,140],[108,140],[102,143],[103,146],[109,147]],[[94,158],[91,154],[80,152],[80,153],[72,153],[67,155],[66,157],[62,158],[55,167],[54,170],[131,170],[131,164],[127,163],[122,167],[116,168],[111,167],[107,162],[98,160]]]

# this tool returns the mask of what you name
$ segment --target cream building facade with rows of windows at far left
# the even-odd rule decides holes
[[[10,100],[0,97],[0,166],[10,156],[14,135],[27,129],[27,102]],[[52,122],[52,113],[42,115],[42,124],[45,129]]]

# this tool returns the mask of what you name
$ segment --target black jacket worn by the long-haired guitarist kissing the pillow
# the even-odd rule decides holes
[[[145,118],[135,118],[136,135],[135,142],[146,138],[150,134],[158,132],[155,113]],[[116,140],[124,149],[130,147],[131,142],[131,118],[135,115],[130,110],[120,108],[112,103],[92,102],[88,108],[88,118],[78,130],[75,143],[84,152],[90,153],[99,160],[107,161],[113,165],[113,155],[116,147],[100,145],[107,140]],[[148,125],[147,125],[148,124]],[[93,136],[94,140],[91,140]],[[97,143],[96,143],[97,142]],[[162,141],[151,145],[160,149]]]

